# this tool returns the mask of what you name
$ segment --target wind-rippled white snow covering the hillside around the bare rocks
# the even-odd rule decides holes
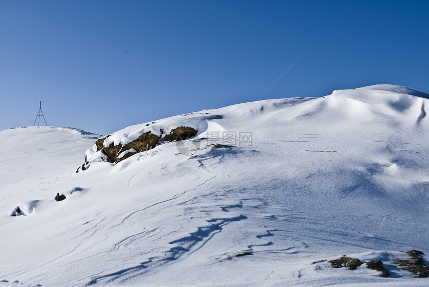
[[[429,286],[393,263],[428,264],[428,108],[395,85],[237,104],[118,131],[198,134],[116,164],[98,135],[0,131],[0,286]],[[391,276],[312,264],[343,255]]]

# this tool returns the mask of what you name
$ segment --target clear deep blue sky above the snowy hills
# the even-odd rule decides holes
[[[372,84],[429,93],[428,51],[427,0],[0,0],[0,130],[40,100],[48,125],[104,135]]]

